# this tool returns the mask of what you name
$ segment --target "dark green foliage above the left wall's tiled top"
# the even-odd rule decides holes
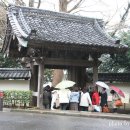
[[[0,68],[13,68],[21,67],[18,59],[12,59],[9,57],[4,58],[3,54],[0,53]]]

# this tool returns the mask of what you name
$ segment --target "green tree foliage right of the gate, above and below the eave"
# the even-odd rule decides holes
[[[118,35],[121,43],[130,47],[130,31],[120,32]],[[126,54],[114,54],[104,57],[99,67],[100,72],[129,72],[130,71],[130,50]]]

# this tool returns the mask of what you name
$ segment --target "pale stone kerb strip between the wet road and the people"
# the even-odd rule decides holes
[[[130,114],[116,114],[116,113],[99,113],[99,112],[78,112],[78,111],[61,111],[61,110],[39,110],[39,109],[11,109],[12,112],[28,112],[28,113],[42,113],[64,116],[77,116],[77,117],[91,117],[91,118],[106,118],[129,120]]]

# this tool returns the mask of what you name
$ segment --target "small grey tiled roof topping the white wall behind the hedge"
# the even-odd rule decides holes
[[[30,79],[31,72],[27,68],[0,68],[0,79]]]

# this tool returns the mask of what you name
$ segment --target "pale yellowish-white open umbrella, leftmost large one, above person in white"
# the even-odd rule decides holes
[[[60,83],[58,83],[55,88],[58,88],[58,89],[66,89],[66,88],[69,88],[69,87],[74,86],[75,84],[76,84],[76,83],[73,82],[73,81],[63,80],[63,81],[61,81]]]

